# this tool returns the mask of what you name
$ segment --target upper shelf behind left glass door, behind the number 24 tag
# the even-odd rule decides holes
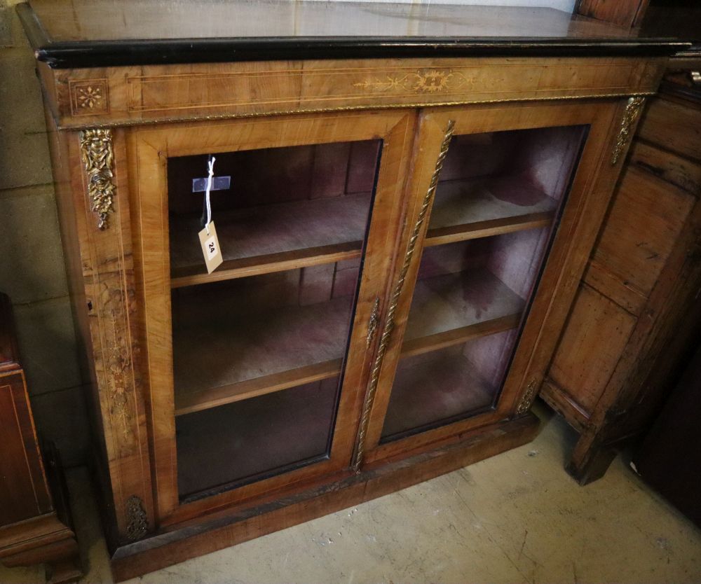
[[[370,202],[370,195],[360,194],[215,212],[224,263],[212,274],[207,274],[197,237],[199,215],[171,215],[171,286],[359,258]]]

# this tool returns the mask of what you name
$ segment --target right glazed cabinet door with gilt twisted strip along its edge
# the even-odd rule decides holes
[[[621,106],[423,111],[358,466],[528,410],[613,186]]]

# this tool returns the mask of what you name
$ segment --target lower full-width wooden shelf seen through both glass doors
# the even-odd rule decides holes
[[[176,416],[341,373],[349,298],[253,311],[232,310],[246,303],[224,297],[203,302],[193,296],[186,303],[191,306],[179,310],[188,312],[190,324],[173,331]],[[508,330],[517,326],[523,307],[524,301],[486,269],[418,281],[402,355]]]

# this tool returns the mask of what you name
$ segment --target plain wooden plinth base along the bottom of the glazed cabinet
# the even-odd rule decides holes
[[[156,534],[117,548],[111,557],[116,582],[142,576],[186,559],[228,548],[279,529],[292,527],[435,478],[482,459],[529,443],[538,432],[538,418],[501,422],[465,435],[458,443],[414,457],[375,466],[323,487],[300,492],[232,517]]]

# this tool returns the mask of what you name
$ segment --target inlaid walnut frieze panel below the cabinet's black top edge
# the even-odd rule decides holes
[[[50,71],[61,127],[650,93],[663,60],[635,57],[339,60]]]

